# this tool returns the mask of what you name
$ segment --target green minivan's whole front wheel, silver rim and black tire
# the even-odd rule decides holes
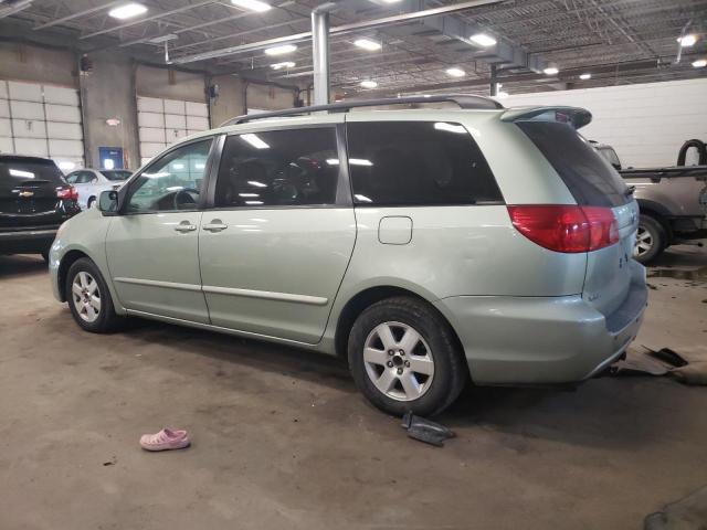
[[[66,300],[74,320],[86,331],[105,333],[120,321],[108,286],[98,267],[87,257],[76,259],[68,269]]]

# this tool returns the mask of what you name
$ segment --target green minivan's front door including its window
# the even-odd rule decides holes
[[[129,183],[106,254],[120,304],[135,312],[208,324],[201,293],[201,189],[211,139],[168,151]]]

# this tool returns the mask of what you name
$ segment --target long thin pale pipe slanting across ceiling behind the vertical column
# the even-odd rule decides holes
[[[331,28],[329,34],[338,35],[351,33],[359,30],[367,30],[371,28],[380,28],[382,25],[395,25],[405,24],[408,22],[423,19],[425,17],[435,17],[439,14],[453,13],[456,11],[464,11],[466,9],[478,8],[479,6],[489,6],[494,3],[500,3],[504,0],[467,0],[465,2],[452,3],[449,6],[442,6],[440,8],[424,9],[422,11],[412,11],[409,13],[394,14],[392,17],[384,17],[382,19],[366,20],[363,22],[354,22],[350,24],[342,24]],[[233,55],[236,53],[253,52],[255,50],[263,50],[276,44],[297,43],[305,42],[312,39],[312,32],[295,33],[294,35],[277,36],[275,39],[268,39],[266,41],[251,42],[249,44],[241,44],[238,46],[222,47],[220,50],[213,50],[211,52],[197,53],[194,55],[186,55],[175,59],[172,62],[178,64],[193,63],[194,61],[204,61],[207,59],[222,57],[224,55]]]

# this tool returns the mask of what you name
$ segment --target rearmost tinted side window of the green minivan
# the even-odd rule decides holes
[[[481,149],[460,124],[352,123],[347,139],[357,204],[503,202]]]

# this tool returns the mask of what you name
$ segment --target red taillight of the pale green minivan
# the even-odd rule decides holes
[[[573,205],[508,206],[518,232],[556,252],[591,252],[619,241],[619,225],[610,208]]]

